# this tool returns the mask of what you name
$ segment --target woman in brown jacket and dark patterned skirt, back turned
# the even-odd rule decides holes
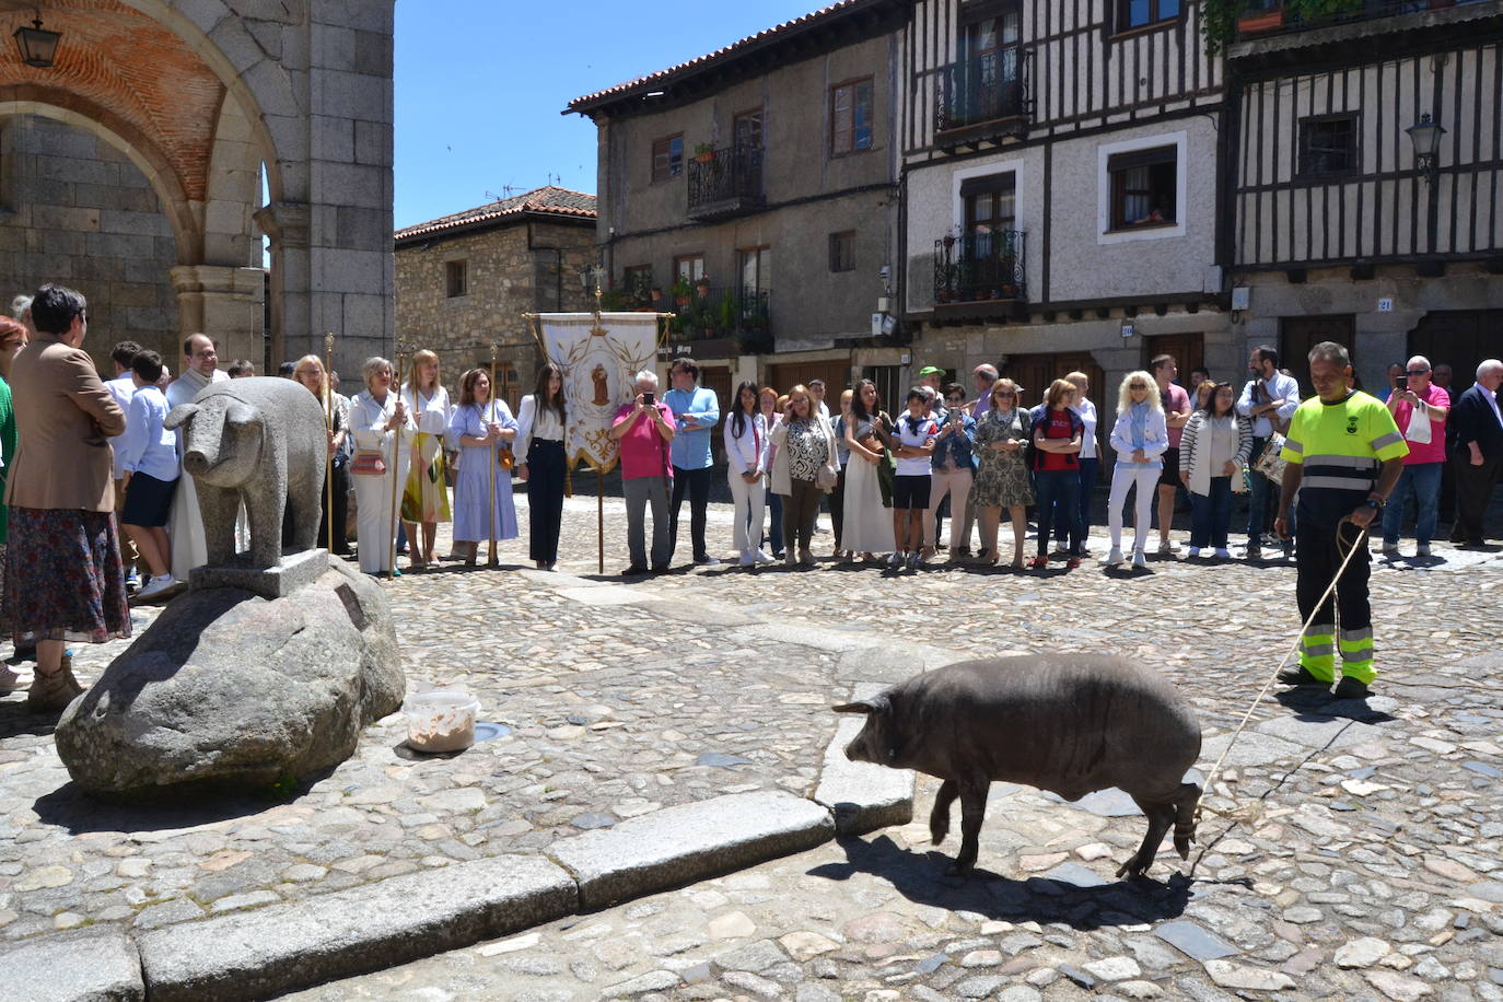
[[[68,641],[131,635],[114,523],[111,436],[125,413],[83,350],[84,297],[42,285],[32,300],[38,337],[11,365],[20,437],[6,484],[11,547],[0,629],[36,637],[35,711],[57,711],[83,691]]]

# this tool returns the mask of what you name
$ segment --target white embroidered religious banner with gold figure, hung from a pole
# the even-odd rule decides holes
[[[589,312],[546,312],[538,315],[538,327],[549,361],[564,370],[570,466],[583,458],[609,473],[621,455],[610,422],[616,409],[631,403],[637,373],[655,368],[658,315],[603,312],[597,323]]]

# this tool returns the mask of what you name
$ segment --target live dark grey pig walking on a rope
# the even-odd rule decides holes
[[[1201,787],[1183,778],[1199,757],[1201,727],[1178,691],[1136,661],[1085,653],[963,661],[834,711],[867,715],[846,745],[852,762],[944,780],[929,816],[935,844],[950,831],[959,795],[960,855],[950,873],[975,865],[993,780],[1067,801],[1124,790],[1148,817],[1148,834],[1118,877],[1153,865],[1169,825],[1180,856],[1190,855]]]

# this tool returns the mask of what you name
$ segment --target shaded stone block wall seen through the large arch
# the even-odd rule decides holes
[[[35,116],[0,120],[0,303],[48,281],[89,299],[87,347],[107,377],[126,338],[176,371],[171,224],[150,182],[104,140]],[[257,358],[257,362],[260,359]]]

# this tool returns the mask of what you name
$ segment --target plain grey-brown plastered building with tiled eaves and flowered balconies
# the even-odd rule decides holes
[[[745,379],[839,394],[873,340],[906,18],[908,0],[842,0],[567,108],[600,135],[612,303],[675,312],[663,361],[694,358],[723,403]]]

